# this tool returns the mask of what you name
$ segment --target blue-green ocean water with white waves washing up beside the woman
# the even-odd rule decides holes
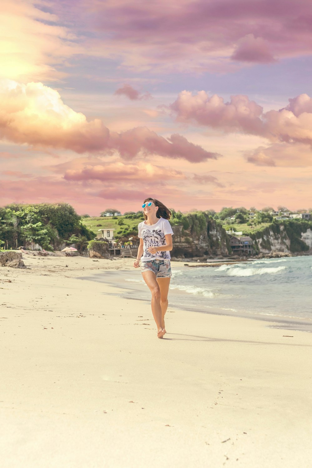
[[[140,271],[133,270],[105,271],[97,280],[121,287],[123,297],[150,302]],[[302,324],[312,331],[312,256],[174,267],[172,273],[169,307],[271,319],[295,329]]]

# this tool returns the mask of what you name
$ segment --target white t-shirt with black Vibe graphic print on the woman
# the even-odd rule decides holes
[[[160,245],[167,245],[165,234],[173,234],[168,219],[160,218],[157,223],[152,226],[145,224],[142,221],[138,225],[138,236],[143,239],[143,256],[142,262],[150,262],[151,260],[169,260],[169,250],[159,250],[156,254],[151,254],[147,249],[149,247],[159,247]]]

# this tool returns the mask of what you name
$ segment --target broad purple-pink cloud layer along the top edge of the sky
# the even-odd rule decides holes
[[[54,5],[66,17],[62,3]],[[233,62],[268,63],[312,51],[306,0],[84,0],[76,9],[80,29],[95,31],[87,40],[94,55],[118,57],[136,71],[224,71]]]

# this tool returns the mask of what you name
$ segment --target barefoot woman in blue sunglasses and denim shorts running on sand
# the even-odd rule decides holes
[[[134,268],[139,267],[145,283],[152,293],[152,314],[157,326],[157,336],[165,333],[165,314],[168,307],[168,290],[171,277],[170,253],[172,234],[168,219],[171,212],[159,200],[146,198],[142,205],[145,221],[138,225],[140,245]]]

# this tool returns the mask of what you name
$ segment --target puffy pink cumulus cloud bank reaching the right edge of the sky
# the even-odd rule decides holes
[[[192,95],[182,91],[169,108],[177,121],[196,122],[224,132],[242,132],[265,137],[270,141],[312,144],[312,100],[299,95],[280,110],[263,112],[261,106],[245,95],[209,97],[205,91]]]

